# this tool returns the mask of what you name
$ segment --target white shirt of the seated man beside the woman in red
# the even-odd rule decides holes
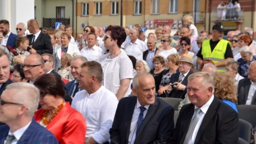
[[[117,97],[104,86],[89,94],[86,90],[78,91],[71,107],[82,113],[86,119],[86,139],[91,137],[103,144],[110,139],[110,128],[118,105]]]

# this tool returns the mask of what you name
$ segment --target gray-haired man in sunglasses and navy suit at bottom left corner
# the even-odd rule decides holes
[[[6,123],[0,126],[0,144],[58,144],[33,119],[38,101],[39,90],[32,84],[16,82],[6,87],[0,99],[0,122]]]

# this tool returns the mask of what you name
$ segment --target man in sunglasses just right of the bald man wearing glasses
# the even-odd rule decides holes
[[[45,73],[54,73],[59,79],[61,79],[61,76],[54,71],[53,69],[53,55],[52,54],[42,54],[42,57],[45,62]]]

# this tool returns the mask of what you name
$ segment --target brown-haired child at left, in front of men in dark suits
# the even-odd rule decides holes
[[[13,61],[13,57],[14,56],[17,56],[17,55],[29,55],[30,53],[27,52],[27,47],[28,47],[28,39],[27,37],[24,37],[24,36],[20,36],[17,38],[16,40],[16,48],[9,52],[9,62],[10,62],[10,65],[11,65],[11,71],[14,70],[14,61]]]

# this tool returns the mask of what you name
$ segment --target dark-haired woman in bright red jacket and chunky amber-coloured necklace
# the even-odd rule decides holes
[[[83,144],[86,123],[81,113],[65,102],[65,88],[53,73],[37,78],[34,85],[40,90],[39,104],[42,108],[34,115],[36,121],[57,138],[59,144]]]

